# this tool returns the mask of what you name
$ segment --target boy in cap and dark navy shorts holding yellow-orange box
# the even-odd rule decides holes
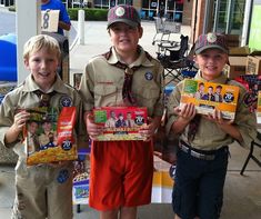
[[[222,71],[228,53],[224,36],[213,32],[200,36],[195,42],[194,60],[199,66],[195,79],[240,88],[234,121],[222,119],[221,111],[217,109],[211,115],[200,116],[192,103],[180,108],[183,81],[168,102],[167,132],[180,135],[172,197],[175,219],[220,217],[228,146],[234,140],[241,146],[250,146],[257,136],[255,116],[244,104],[245,89],[229,80]]]

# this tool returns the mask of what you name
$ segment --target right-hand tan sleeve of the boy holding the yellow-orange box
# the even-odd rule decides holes
[[[257,117],[254,112],[249,111],[249,107],[244,101],[247,97],[247,90],[240,87],[234,123],[243,138],[243,142],[240,145],[249,148],[251,141],[257,138]]]

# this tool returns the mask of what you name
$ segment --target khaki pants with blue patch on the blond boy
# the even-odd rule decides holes
[[[12,219],[72,219],[72,162],[16,167]]]

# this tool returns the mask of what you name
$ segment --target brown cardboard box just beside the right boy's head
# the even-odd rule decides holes
[[[223,69],[228,78],[234,79],[241,74],[245,74],[247,57],[229,57],[229,63]]]

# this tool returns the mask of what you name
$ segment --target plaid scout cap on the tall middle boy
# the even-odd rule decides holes
[[[140,26],[140,16],[135,8],[127,4],[118,4],[111,8],[108,12],[108,26],[110,28],[111,24],[116,22],[123,22],[133,28]]]

